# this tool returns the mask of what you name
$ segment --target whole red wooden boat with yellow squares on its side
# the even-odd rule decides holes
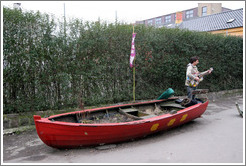
[[[179,98],[113,105],[41,118],[34,115],[37,134],[48,146],[74,148],[133,140],[200,117],[207,98],[184,107]]]

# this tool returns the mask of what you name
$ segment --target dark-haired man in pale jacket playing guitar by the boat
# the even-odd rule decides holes
[[[195,99],[195,95],[192,95],[192,91],[197,89],[197,85],[203,80],[203,76],[210,74],[213,68],[207,71],[199,72],[197,64],[199,58],[197,56],[191,57],[190,63],[187,65],[185,86],[187,87],[187,95],[189,99]]]

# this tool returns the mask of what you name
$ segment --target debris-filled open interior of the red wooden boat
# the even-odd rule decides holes
[[[122,123],[136,120],[143,120],[160,116],[163,114],[176,114],[179,110],[189,107],[185,99],[167,99],[163,101],[156,101],[147,104],[133,104],[121,107],[112,107],[109,109],[98,109],[93,111],[77,111],[71,114],[65,114],[49,118],[51,121],[62,121],[70,123],[83,124],[100,124],[100,123]],[[196,103],[204,103],[207,98],[196,98]],[[185,105],[186,104],[186,105]]]

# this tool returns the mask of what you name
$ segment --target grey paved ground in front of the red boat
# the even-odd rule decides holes
[[[58,150],[36,131],[3,136],[4,163],[244,163],[243,97],[210,101],[201,118],[144,139],[97,147]],[[107,146],[105,146],[107,148]]]

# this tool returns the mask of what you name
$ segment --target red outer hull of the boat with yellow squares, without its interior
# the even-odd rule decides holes
[[[159,101],[161,100],[144,102],[144,104]],[[142,103],[134,103],[134,105],[137,104]],[[75,148],[129,141],[167,130],[200,117],[205,112],[207,105],[208,101],[184,108],[175,114],[164,114],[122,123],[81,124],[53,122],[50,118],[41,118],[39,115],[34,115],[34,121],[37,134],[46,145],[54,148]],[[106,108],[122,106],[125,105]]]

